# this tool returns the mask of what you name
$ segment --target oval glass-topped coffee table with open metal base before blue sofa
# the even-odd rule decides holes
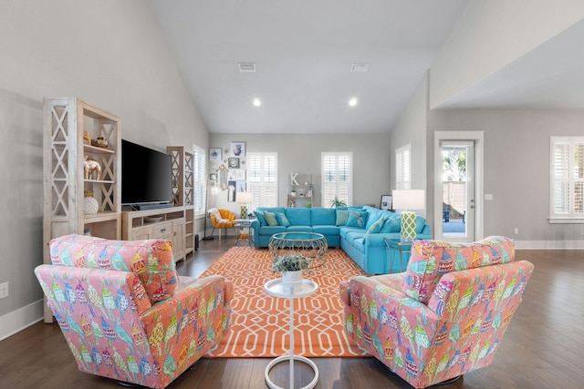
[[[287,254],[300,254],[312,260],[308,269],[325,263],[328,254],[327,238],[311,231],[278,232],[272,235],[267,245],[273,260]]]

